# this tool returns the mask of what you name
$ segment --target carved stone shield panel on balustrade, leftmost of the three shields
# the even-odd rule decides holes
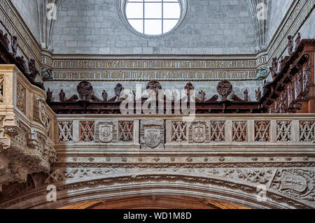
[[[97,122],[95,124],[95,143],[118,143],[118,121]]]

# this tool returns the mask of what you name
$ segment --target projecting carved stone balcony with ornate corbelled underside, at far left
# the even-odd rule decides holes
[[[0,65],[0,188],[48,172],[57,159],[55,113],[42,89],[14,65]]]

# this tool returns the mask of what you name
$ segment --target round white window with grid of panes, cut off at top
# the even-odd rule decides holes
[[[130,26],[141,34],[166,34],[177,24],[182,15],[179,0],[128,0],[125,16]]]

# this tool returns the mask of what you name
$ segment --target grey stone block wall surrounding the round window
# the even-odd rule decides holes
[[[255,25],[246,0],[188,1],[183,23],[163,37],[132,33],[118,18],[117,0],[66,0],[52,33],[54,53],[254,53]]]

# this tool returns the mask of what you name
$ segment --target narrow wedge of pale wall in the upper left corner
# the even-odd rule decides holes
[[[15,8],[20,13],[22,19],[31,30],[36,40],[39,42],[40,29],[37,0],[11,0]]]

